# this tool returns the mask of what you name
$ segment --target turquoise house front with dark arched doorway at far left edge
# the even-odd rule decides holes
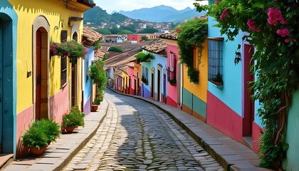
[[[3,152],[16,154],[16,35],[18,16],[13,6],[6,1],[0,1],[0,17],[3,20],[3,108],[6,115],[3,118]],[[1,116],[2,116],[2,111]],[[1,123],[2,124],[2,123]],[[2,131],[2,130],[0,130]]]

